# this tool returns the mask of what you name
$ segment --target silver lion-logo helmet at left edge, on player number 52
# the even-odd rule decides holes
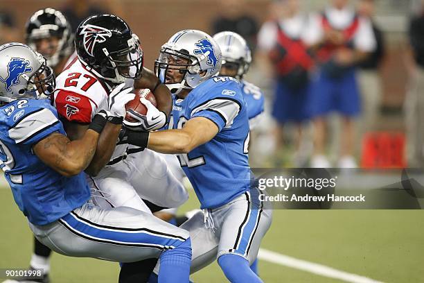
[[[40,53],[16,42],[0,46],[0,101],[48,98],[55,86],[55,74]]]

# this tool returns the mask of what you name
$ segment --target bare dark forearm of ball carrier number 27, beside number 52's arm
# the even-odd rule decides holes
[[[120,131],[121,125],[114,123],[106,124],[103,132],[98,138],[96,153],[94,154],[89,166],[87,166],[87,169],[85,169],[87,174],[93,176],[98,175],[100,170],[102,170],[107,162],[109,162],[110,157],[112,157],[112,154],[114,153]]]

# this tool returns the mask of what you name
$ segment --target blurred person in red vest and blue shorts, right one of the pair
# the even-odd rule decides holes
[[[341,153],[337,166],[355,167],[354,117],[360,114],[355,65],[376,49],[369,19],[357,15],[348,0],[331,0],[320,15],[313,15],[306,42],[315,49],[319,73],[312,80],[310,111],[314,117],[315,153],[312,167],[329,167],[325,155],[326,117],[342,115]]]

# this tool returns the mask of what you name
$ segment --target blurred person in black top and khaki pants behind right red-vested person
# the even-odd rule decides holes
[[[362,94],[360,136],[362,136],[365,131],[375,128],[382,99],[380,65],[385,55],[385,42],[382,31],[372,19],[375,2],[375,0],[360,0],[357,5],[358,14],[370,19],[377,44],[376,49],[360,63],[360,71],[357,73]]]

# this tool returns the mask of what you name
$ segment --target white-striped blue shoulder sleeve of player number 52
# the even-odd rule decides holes
[[[51,109],[39,108],[11,126],[8,135],[16,144],[32,145],[53,132],[64,132],[62,123]]]

